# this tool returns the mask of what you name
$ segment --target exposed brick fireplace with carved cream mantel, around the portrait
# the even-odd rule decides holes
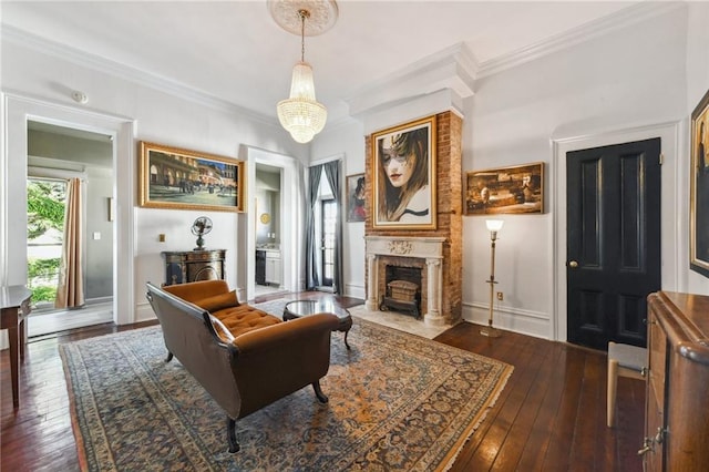
[[[372,199],[364,226],[367,308],[378,310],[387,294],[387,267],[421,271],[420,311],[428,325],[454,325],[462,312],[462,119],[446,111],[436,117],[436,228],[372,227]],[[372,175],[372,136],[366,138],[366,173]],[[372,178],[367,178],[372,195]]]

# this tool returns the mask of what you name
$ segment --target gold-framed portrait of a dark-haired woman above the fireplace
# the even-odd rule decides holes
[[[435,116],[372,134],[372,227],[435,229]]]

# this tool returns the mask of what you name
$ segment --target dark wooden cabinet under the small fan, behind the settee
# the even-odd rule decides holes
[[[165,285],[223,279],[226,249],[161,253],[165,259]]]

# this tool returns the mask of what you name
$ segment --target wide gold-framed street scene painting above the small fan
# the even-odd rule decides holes
[[[143,207],[244,211],[244,161],[143,141],[138,174]]]

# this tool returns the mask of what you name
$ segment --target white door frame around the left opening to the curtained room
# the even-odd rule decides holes
[[[113,137],[113,320],[135,322],[133,120],[10,92],[1,94],[1,107],[0,285],[27,284],[28,121],[104,133]]]

